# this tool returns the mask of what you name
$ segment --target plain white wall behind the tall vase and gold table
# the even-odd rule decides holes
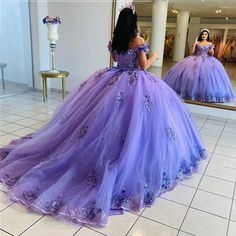
[[[36,88],[41,88],[37,72],[50,69],[46,26],[40,22],[46,15],[59,16],[62,21],[56,46],[56,69],[70,72],[66,83],[67,90],[72,90],[95,70],[109,66],[107,45],[111,36],[111,1],[38,0],[32,1],[31,7],[31,18],[35,27],[33,47]],[[46,63],[43,63],[43,60]],[[51,79],[51,86],[61,89],[61,81]]]

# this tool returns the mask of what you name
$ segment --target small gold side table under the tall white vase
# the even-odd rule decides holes
[[[68,71],[59,70],[58,72],[52,72],[50,70],[44,70],[39,72],[43,82],[43,101],[47,99],[47,79],[48,78],[61,78],[62,85],[62,98],[65,97],[65,79],[68,77]]]

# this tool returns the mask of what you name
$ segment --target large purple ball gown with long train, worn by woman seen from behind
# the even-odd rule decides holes
[[[143,45],[76,88],[40,130],[0,150],[13,201],[104,226],[138,211],[197,170],[204,146],[182,100],[138,66]]]

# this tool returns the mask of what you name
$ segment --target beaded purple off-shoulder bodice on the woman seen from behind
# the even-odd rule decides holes
[[[111,43],[108,45],[108,49],[111,52]],[[112,52],[117,62],[117,68],[121,70],[135,70],[139,69],[138,54],[140,52],[148,52],[148,44],[143,44],[132,49],[128,49],[125,53]]]

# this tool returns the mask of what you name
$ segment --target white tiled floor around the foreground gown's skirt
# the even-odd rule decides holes
[[[25,93],[0,99],[0,145],[47,122],[60,94]],[[209,153],[199,172],[139,214],[112,216],[105,228],[78,226],[28,211],[0,191],[0,236],[235,236],[236,121],[194,115]]]

